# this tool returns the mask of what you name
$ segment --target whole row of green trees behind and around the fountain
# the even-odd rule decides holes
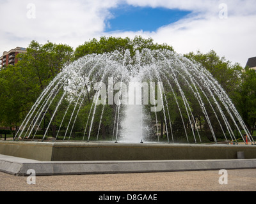
[[[169,45],[159,45],[154,43],[151,38],[144,39],[141,36],[136,36],[134,39],[102,37],[100,40],[93,39],[86,41],[83,45],[77,47],[76,50],[68,45],[56,45],[51,42],[40,45],[36,41],[31,41],[26,54],[20,54],[18,56],[19,62],[15,66],[8,66],[8,68],[1,69],[0,71],[1,126],[20,126],[31,106],[49,82],[66,65],[76,61],[80,57],[94,53],[103,54],[115,50],[121,53],[129,50],[131,55],[135,55],[136,50],[141,51],[143,48],[173,51],[173,48]],[[253,132],[256,122],[255,71],[248,68],[243,69],[239,64],[232,64],[224,57],[218,56],[213,50],[207,54],[191,52],[186,54],[185,57],[201,63],[212,73],[213,77],[218,80],[236,105],[248,129]],[[88,102],[91,103],[92,101]],[[86,115],[89,112],[90,103],[81,108],[82,115]],[[104,137],[108,134],[110,135],[113,128],[111,128],[110,124],[112,120],[109,117],[109,115],[113,115],[114,113],[113,107],[106,106],[106,112],[106,116],[104,116],[106,118],[102,120],[102,134]],[[51,117],[51,113],[47,114]],[[98,115],[97,118],[100,118],[100,111],[96,115]],[[159,118],[161,119],[163,116],[161,117],[159,115]],[[47,117],[45,120],[44,122],[47,124]],[[180,121],[179,118],[173,119],[173,124],[179,126],[179,122],[174,122],[175,120]],[[84,124],[86,117],[82,121]],[[161,125],[163,126],[163,120],[161,120]],[[81,131],[83,128],[83,125],[78,125],[76,130]],[[56,126],[53,129],[55,130]],[[95,134],[97,133],[97,129],[93,131]],[[163,131],[161,135],[163,135]]]

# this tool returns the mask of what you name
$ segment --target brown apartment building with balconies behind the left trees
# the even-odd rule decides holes
[[[9,52],[4,51],[3,56],[0,57],[0,69],[8,65],[15,65],[19,59],[17,55],[26,52],[26,48],[17,47]]]

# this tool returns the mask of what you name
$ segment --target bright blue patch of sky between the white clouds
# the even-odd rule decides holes
[[[106,32],[156,31],[186,17],[190,11],[123,5],[109,10],[113,17],[106,21]]]

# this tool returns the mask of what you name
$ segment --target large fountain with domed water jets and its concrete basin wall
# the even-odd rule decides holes
[[[55,143],[36,144],[47,145],[62,156],[67,156],[68,148],[73,148],[73,152],[65,158],[50,155],[49,160],[72,159],[74,154],[83,155],[75,156],[81,160],[225,159],[227,146],[221,151],[220,145],[191,145],[203,143],[204,131],[198,125],[198,115],[204,120],[207,137],[215,144],[220,135],[221,141],[237,143],[234,128],[244,143],[243,133],[255,144],[226,92],[200,64],[170,50],[144,49],[134,56],[128,50],[123,54],[91,54],[66,66],[52,80],[22,122],[15,140],[35,140],[36,133],[44,129],[45,141],[51,129],[55,132]],[[70,142],[77,126],[83,139]],[[100,142],[106,128],[108,142]],[[180,135],[187,145],[177,145],[175,141]],[[175,152],[177,146],[184,149]],[[199,149],[200,153],[192,154],[189,149]],[[203,152],[207,151],[205,156]],[[232,150],[230,157],[236,157],[237,151]],[[137,158],[131,152],[147,156]]]

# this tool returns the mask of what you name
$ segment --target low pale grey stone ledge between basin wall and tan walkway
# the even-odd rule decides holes
[[[170,171],[256,169],[256,159],[157,160],[157,161],[37,161],[0,154],[0,171],[26,176],[150,173]]]

